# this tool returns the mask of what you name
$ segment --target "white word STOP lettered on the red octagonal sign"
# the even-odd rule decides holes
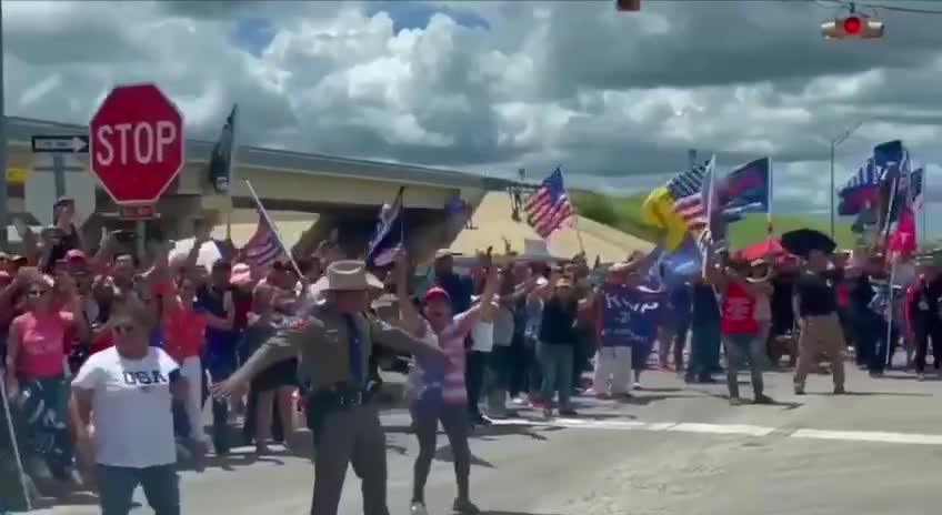
[[[118,147],[117,156],[112,138]],[[120,165],[163,162],[164,155],[170,152],[169,147],[176,143],[177,138],[177,125],[169,120],[158,120],[154,124],[139,122],[101,125],[96,132],[98,144],[94,160],[103,166],[111,165],[116,158]],[[129,159],[129,150],[133,159]]]

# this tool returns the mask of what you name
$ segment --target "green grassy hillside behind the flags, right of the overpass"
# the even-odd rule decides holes
[[[575,210],[581,216],[612,226],[624,233],[653,242],[658,230],[641,222],[641,204],[647,193],[633,195],[604,195],[601,193],[574,190],[570,192]],[[824,232],[830,230],[830,221],[824,216],[808,214],[775,213],[772,218],[775,234],[782,234],[794,229],[815,229]],[[851,248],[855,236],[851,233],[851,224],[838,221],[835,240],[841,248]],[[730,224],[730,246],[741,249],[765,238],[765,214],[749,213],[739,222]]]

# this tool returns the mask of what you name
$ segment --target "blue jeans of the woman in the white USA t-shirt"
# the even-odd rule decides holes
[[[180,481],[176,465],[144,468],[98,465],[101,515],[128,515],[138,485],[154,515],[180,515]]]

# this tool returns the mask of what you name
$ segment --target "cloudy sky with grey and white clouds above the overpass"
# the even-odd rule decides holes
[[[726,169],[771,155],[776,209],[804,212],[826,212],[829,142],[863,122],[839,183],[900,138],[942,192],[942,14],[878,9],[882,40],[825,41],[838,2],[642,2],[4,1],[6,108],[87,123],[112,85],[153,81],[192,138],[238,102],[251,144],[503,176],[561,163],[618,191],[690,148]]]

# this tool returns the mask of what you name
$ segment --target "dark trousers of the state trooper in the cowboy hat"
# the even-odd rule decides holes
[[[348,464],[362,481],[363,515],[389,515],[385,435],[377,406],[368,402],[334,407],[321,415],[317,426],[311,427],[315,447],[311,515],[337,515]]]

